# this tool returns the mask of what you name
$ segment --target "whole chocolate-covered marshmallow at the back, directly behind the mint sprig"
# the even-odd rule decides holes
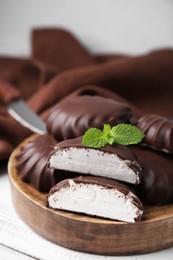
[[[102,129],[105,123],[128,123],[131,117],[125,103],[100,96],[76,96],[54,107],[47,119],[47,130],[60,141],[81,136],[90,127]]]

